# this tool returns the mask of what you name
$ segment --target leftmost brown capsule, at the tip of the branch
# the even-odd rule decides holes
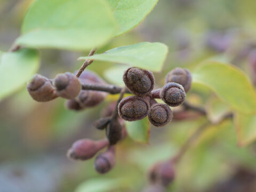
[[[30,96],[38,102],[51,101],[58,98],[50,79],[36,74],[27,85]]]

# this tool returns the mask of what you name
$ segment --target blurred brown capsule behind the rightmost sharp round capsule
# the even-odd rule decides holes
[[[187,93],[191,88],[192,76],[188,69],[174,68],[165,77],[165,83],[178,83],[183,86],[185,92]]]

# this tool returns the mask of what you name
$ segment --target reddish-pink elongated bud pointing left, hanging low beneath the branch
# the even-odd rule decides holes
[[[73,159],[87,160],[92,158],[99,150],[109,145],[107,139],[94,141],[81,139],[73,143],[68,150],[67,156]]]

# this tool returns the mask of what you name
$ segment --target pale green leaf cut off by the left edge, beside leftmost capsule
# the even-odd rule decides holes
[[[39,67],[36,50],[0,53],[0,100],[25,86]]]

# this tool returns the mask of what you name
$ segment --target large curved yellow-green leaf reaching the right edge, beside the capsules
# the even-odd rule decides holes
[[[205,61],[194,71],[193,82],[209,87],[233,109],[256,112],[256,94],[249,78],[232,65]]]

